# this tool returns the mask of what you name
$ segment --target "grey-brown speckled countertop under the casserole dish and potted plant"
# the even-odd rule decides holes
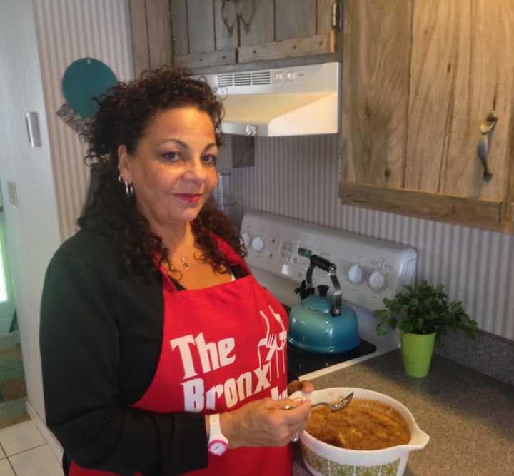
[[[427,377],[410,378],[403,373],[399,349],[313,383],[376,390],[408,407],[430,442],[410,453],[405,476],[514,475],[512,385],[440,355],[433,355]],[[293,476],[310,474],[295,444]]]

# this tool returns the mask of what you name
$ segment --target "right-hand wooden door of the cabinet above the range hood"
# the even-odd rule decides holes
[[[341,0],[241,0],[241,4],[243,18],[251,21],[246,22],[246,31],[240,27],[239,63],[336,51],[333,9],[341,9]]]

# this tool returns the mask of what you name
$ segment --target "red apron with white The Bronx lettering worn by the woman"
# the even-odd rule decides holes
[[[163,340],[150,387],[132,406],[158,413],[236,410],[251,400],[287,396],[286,311],[221,238],[218,248],[247,276],[197,290],[176,290],[163,270]],[[291,475],[291,445],[209,453],[188,475]],[[71,463],[69,476],[117,476]],[[136,473],[136,476],[143,476]]]

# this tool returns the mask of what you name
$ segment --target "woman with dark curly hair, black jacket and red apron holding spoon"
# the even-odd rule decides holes
[[[221,114],[181,69],[99,101],[99,183],[41,303],[46,423],[69,476],[291,474],[310,404],[287,398],[287,315],[213,206]]]

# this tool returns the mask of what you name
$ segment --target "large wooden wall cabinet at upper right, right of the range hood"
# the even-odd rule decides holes
[[[345,1],[343,18],[341,201],[508,229],[514,1]]]

